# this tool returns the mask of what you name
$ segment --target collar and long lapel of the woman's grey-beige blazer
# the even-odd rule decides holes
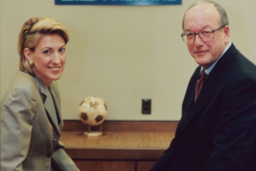
[[[56,96],[54,94],[54,91],[52,90],[52,84],[48,89],[48,87],[43,83],[43,81],[38,76],[35,76],[34,78],[38,82],[37,86],[38,86],[38,90],[41,93],[41,98],[44,103],[44,108],[52,120],[53,127],[55,127],[60,134],[60,127],[57,119],[57,115],[60,116],[60,108],[56,101]]]

